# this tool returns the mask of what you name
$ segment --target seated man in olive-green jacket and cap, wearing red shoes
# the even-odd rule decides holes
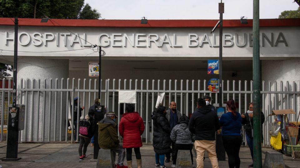
[[[98,144],[102,149],[110,149],[113,151],[113,157],[116,157],[118,153],[118,162],[117,165],[113,162],[113,168],[128,168],[123,164],[125,160],[125,149],[120,145],[119,136],[118,136],[118,125],[115,122],[115,119],[118,116],[110,111],[106,113],[106,117],[98,122]],[[115,159],[113,159],[114,161]]]

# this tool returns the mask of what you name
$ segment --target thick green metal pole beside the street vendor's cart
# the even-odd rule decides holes
[[[253,0],[253,160],[254,167],[262,167],[260,115],[260,58],[259,58],[259,0]]]

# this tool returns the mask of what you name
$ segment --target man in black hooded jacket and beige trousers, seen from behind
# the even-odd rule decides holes
[[[191,133],[195,134],[195,149],[197,151],[197,168],[202,168],[203,156],[207,150],[212,168],[218,168],[216,154],[215,133],[220,128],[218,116],[211,107],[206,105],[204,99],[197,100],[198,110],[195,111],[189,121],[188,127]]]

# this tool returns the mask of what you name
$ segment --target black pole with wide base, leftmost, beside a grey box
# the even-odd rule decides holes
[[[13,54],[13,84],[12,84],[12,108],[9,110],[8,116],[8,136],[6,159],[2,160],[19,160],[18,158],[18,136],[19,136],[19,121],[20,112],[16,106],[17,97],[17,59],[18,59],[18,18],[15,18],[15,33],[14,33],[14,54]],[[14,109],[14,110],[13,110]]]

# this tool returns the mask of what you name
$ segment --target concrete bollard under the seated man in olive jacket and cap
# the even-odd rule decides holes
[[[115,168],[115,156],[112,150],[100,149],[96,168]]]

